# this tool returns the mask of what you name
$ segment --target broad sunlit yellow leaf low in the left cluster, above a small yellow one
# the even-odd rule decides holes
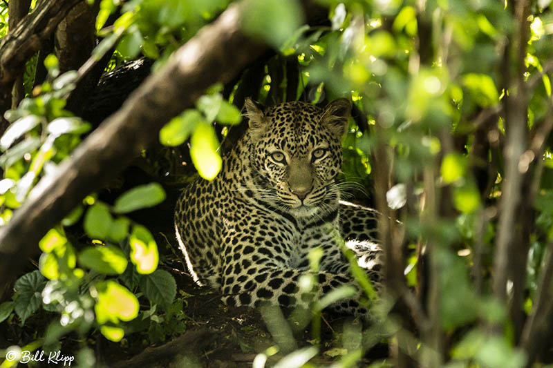
[[[97,303],[94,306],[96,321],[118,323],[130,321],[138,316],[138,299],[129,289],[117,282],[107,280],[95,284]]]

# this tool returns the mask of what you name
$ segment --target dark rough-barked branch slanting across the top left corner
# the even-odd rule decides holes
[[[54,32],[66,14],[83,0],[42,1],[0,41],[0,133],[7,128],[4,111],[10,108],[13,81],[25,63]]]

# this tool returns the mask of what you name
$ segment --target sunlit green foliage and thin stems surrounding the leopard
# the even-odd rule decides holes
[[[198,173],[212,180],[221,169],[220,140],[241,122],[243,90],[253,90],[252,97],[265,104],[350,98],[355,116],[343,142],[340,185],[375,193],[373,204],[384,214],[381,240],[399,249],[394,272],[400,280],[390,280],[395,292],[384,293],[371,308],[373,325],[365,330],[346,325],[343,346],[326,355],[352,366],[384,340],[420,365],[534,362],[522,331],[532,330],[530,322],[543,310],[536,304],[551,299],[549,280],[541,278],[553,251],[550,1],[527,7],[494,0],[319,3],[329,10],[328,22],[310,26],[303,24],[308,14],[301,14],[299,1],[252,1],[244,30],[278,55],[258,61],[261,72],[252,72],[251,79],[205,91],[196,108],[162,128],[160,142],[171,147],[189,142]],[[227,6],[226,0],[102,0],[96,28],[104,39],[93,55],[116,46],[114,59],[142,54],[156,59],[157,70]],[[106,27],[119,10],[113,27]],[[6,34],[6,14],[0,3],[0,37]],[[40,95],[6,114],[12,125],[0,139],[2,224],[90,128],[64,110],[75,73],[59,75],[55,57],[46,66],[49,79]],[[514,166],[512,142],[521,147]],[[147,333],[150,342],[182,332],[182,300],[174,300],[172,276],[157,269],[156,241],[125,216],[164,199],[158,184],[123,193],[113,206],[87,197],[41,241],[39,271],[17,280],[12,300],[0,304],[0,322],[17,316],[24,324],[41,307],[55,311],[59,318],[46,331],[45,344],[71,330],[84,335],[92,326],[114,341],[127,328]],[[388,217],[402,226],[386,222]],[[67,228],[73,224],[82,224],[86,245],[71,239]],[[507,251],[505,234],[514,240]],[[504,255],[510,261],[500,264]],[[371,284],[355,260],[351,264],[373,300]],[[317,269],[317,254],[312,268]],[[505,284],[494,286],[503,273]],[[313,282],[306,279],[306,289]],[[322,352],[321,310],[349,293],[339,289],[312,300],[307,318],[292,313],[297,326],[311,322],[315,347],[297,349],[291,342],[294,321],[288,325],[279,311],[263,313],[275,345],[254,367],[263,367],[279,350],[289,354],[277,363],[281,367],[300,367]],[[148,310],[139,308],[139,298],[149,302]],[[417,329],[391,312],[395,303],[406,304]],[[147,323],[140,325],[140,316]],[[375,364],[380,363],[387,364]]]

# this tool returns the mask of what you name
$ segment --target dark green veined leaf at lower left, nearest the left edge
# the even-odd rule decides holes
[[[25,320],[39,309],[42,302],[41,291],[45,284],[46,280],[39,270],[26,273],[15,282],[14,291],[17,294],[15,313],[21,318],[22,324],[25,324]]]

